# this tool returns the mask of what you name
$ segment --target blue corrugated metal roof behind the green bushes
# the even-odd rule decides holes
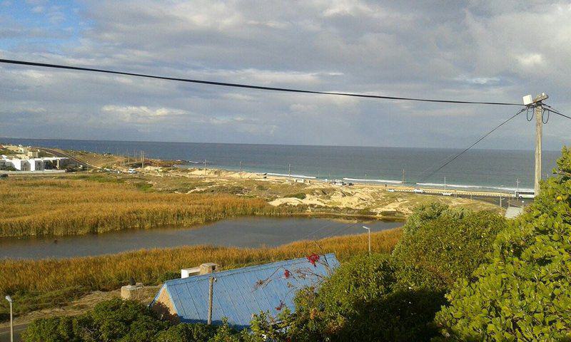
[[[295,291],[316,284],[338,266],[335,254],[325,254],[315,266],[307,258],[292,259],[173,279],[166,281],[163,287],[166,287],[181,322],[206,323],[209,279],[214,276],[213,323],[228,318],[232,326],[246,328],[250,326],[252,314],[260,311],[278,314],[276,307],[281,302],[293,311]],[[291,274],[288,279],[285,269]],[[259,285],[261,280],[267,281]]]

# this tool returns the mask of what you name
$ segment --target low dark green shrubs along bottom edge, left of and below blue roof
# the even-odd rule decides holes
[[[158,319],[147,306],[137,301],[112,299],[76,317],[41,318],[32,322],[24,342],[246,342],[254,336],[228,327],[206,324],[172,325]]]

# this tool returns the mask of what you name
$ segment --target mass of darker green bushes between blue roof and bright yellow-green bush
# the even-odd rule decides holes
[[[299,291],[295,314],[284,311],[275,326],[261,313],[253,329],[276,341],[430,341],[445,292],[487,260],[506,225],[491,212],[418,207],[393,254],[353,257],[320,288]]]

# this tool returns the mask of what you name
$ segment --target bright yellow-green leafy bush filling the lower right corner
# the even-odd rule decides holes
[[[497,235],[492,260],[461,279],[437,316],[446,341],[571,338],[571,151],[522,217]]]

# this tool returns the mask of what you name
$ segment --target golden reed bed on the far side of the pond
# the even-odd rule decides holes
[[[6,180],[0,187],[0,206],[0,237],[190,226],[283,212],[263,199],[143,192],[129,184],[77,179]]]

